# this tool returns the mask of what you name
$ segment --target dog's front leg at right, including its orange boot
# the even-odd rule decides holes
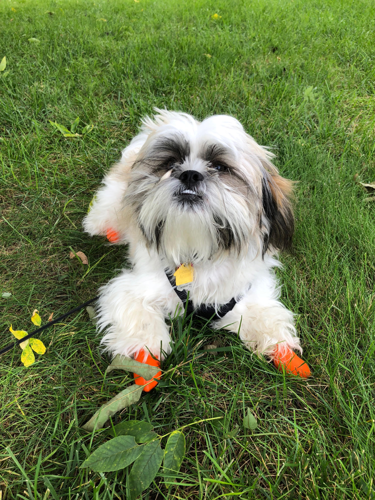
[[[263,275],[251,284],[234,308],[215,322],[215,327],[238,332],[245,346],[257,355],[270,357],[276,367],[306,377],[307,364],[295,350],[302,352],[293,321],[293,313],[277,300],[275,278]]]

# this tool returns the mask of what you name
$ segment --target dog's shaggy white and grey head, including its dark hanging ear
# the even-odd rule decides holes
[[[291,182],[232,116],[159,111],[132,165],[125,203],[148,247],[175,264],[289,245]]]

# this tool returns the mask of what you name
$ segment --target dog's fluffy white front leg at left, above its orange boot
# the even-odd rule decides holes
[[[99,290],[97,326],[101,344],[112,355],[141,350],[162,359],[171,350],[165,318],[178,307],[178,297],[164,272],[123,270]]]

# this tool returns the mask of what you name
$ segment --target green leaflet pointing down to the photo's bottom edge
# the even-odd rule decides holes
[[[163,456],[164,451],[158,439],[144,445],[143,453],[135,460],[129,474],[131,500],[151,484],[160,468]]]

